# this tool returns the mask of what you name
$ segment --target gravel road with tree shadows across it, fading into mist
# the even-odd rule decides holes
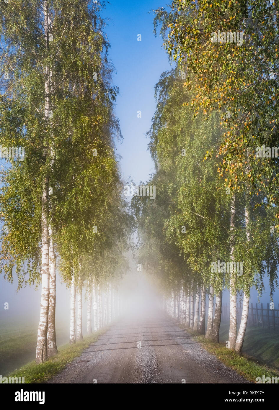
[[[183,379],[249,383],[164,313],[146,308],[111,326],[48,383],[183,383]]]

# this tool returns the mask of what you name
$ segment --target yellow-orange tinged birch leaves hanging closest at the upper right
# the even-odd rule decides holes
[[[227,187],[265,188],[268,204],[278,201],[278,158],[258,158],[256,147],[278,146],[278,18],[276,2],[174,0],[154,23],[155,30],[162,23],[164,47],[187,73],[194,115],[201,108],[205,119],[219,115]],[[243,44],[212,41],[218,30],[243,32]]]

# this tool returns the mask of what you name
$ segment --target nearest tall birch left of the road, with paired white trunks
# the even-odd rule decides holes
[[[72,215],[74,218],[81,215],[76,223],[80,222],[80,229],[84,226],[82,222],[89,219],[90,227],[92,222],[96,223],[96,212],[89,215],[89,203],[94,203],[96,198],[96,208],[106,206],[107,191],[102,192],[106,186],[102,177],[107,182],[117,173],[112,148],[112,135],[119,133],[112,112],[117,90],[109,85],[112,68],[105,57],[108,43],[98,15],[99,5],[74,0],[69,7],[66,0],[28,4],[16,0],[0,7],[1,71],[9,73],[12,80],[1,84],[4,86],[1,136],[7,146],[16,143],[26,153],[21,164],[15,162],[3,174],[2,181],[2,219],[11,226],[13,213],[21,216],[25,224],[18,233],[23,234],[25,243],[21,239],[11,251],[8,241],[4,241],[2,261],[8,255],[9,264],[3,263],[3,267],[10,280],[13,266],[17,266],[19,287],[25,273],[29,273],[30,284],[41,281],[36,358],[39,363],[46,360],[48,349],[50,355],[55,353],[56,346],[54,242],[62,259],[70,260],[71,244],[75,244],[79,234],[76,232],[75,238],[72,235]],[[12,137],[16,134],[17,141]],[[29,187],[25,195],[21,195],[19,185],[9,189],[15,173],[18,181],[25,180],[25,189]],[[99,178],[97,189],[96,178]],[[115,186],[113,177],[111,183]],[[5,197],[12,198],[11,195],[14,196],[11,204],[17,210],[5,207]],[[26,200],[30,209],[25,205]],[[82,207],[77,206],[81,203]],[[31,219],[34,221],[30,222]],[[9,230],[9,240],[18,233]],[[85,251],[84,242],[81,243],[79,254]],[[65,262],[64,266],[67,266],[65,277],[70,279],[73,264]]]

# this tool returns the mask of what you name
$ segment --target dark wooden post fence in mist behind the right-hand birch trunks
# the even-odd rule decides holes
[[[275,326],[279,326],[279,305],[278,309],[270,309],[270,304],[267,303],[267,307],[263,307],[263,303],[259,304],[250,303],[247,326],[266,327],[268,329],[275,330]],[[237,321],[240,323],[242,314],[242,304],[236,304]],[[222,303],[222,320],[228,321],[230,318],[230,306],[227,303]]]

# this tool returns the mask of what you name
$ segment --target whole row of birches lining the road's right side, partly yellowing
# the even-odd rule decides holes
[[[278,157],[256,152],[278,146],[278,15],[272,2],[249,1],[175,0],[156,11],[176,68],[156,85],[148,134],[156,201],[133,199],[140,260],[159,276],[165,308],[179,318],[182,301],[186,323],[205,333],[207,292],[206,337],[218,341],[228,288],[229,347],[239,353],[251,287],[261,294],[267,274],[272,301],[277,286]],[[212,42],[218,30],[243,32],[243,44]]]

